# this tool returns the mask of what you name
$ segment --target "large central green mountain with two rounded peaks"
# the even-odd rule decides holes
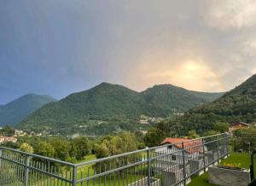
[[[173,111],[211,102],[221,93],[200,93],[172,85],[157,85],[143,92],[118,84],[102,83],[51,102],[24,119],[19,127],[55,133],[108,133],[131,129],[141,115],[166,117]],[[179,106],[180,105],[180,106]]]

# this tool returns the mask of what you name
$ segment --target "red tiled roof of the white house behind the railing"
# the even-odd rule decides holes
[[[202,153],[202,140],[201,139],[186,139],[186,138],[172,138],[167,137],[161,144],[174,144],[177,148],[182,148],[182,142],[184,145],[184,149],[187,153]]]

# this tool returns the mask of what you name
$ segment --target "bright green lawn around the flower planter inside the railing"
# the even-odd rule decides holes
[[[243,168],[250,167],[250,154],[245,153],[232,153],[227,159],[222,160],[221,163],[236,163],[241,164]],[[208,173],[204,173],[199,177],[192,177],[191,183],[188,184],[189,186],[213,186],[213,184],[208,183]]]

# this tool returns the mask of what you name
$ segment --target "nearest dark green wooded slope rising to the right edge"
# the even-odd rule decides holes
[[[160,127],[167,127],[167,131],[173,131],[173,127],[176,127],[185,135],[190,130],[198,133],[213,130],[217,122],[239,121],[256,122],[256,75],[214,102],[192,108],[182,117],[169,119]]]

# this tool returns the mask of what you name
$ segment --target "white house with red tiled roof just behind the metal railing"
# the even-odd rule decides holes
[[[155,171],[164,172],[164,186],[181,181],[183,166],[185,166],[186,175],[189,175],[191,171],[194,171],[190,167],[191,161],[202,162],[203,142],[201,139],[168,137],[161,142],[161,145],[155,149],[155,154],[159,157]],[[188,177],[187,183],[189,182]]]

